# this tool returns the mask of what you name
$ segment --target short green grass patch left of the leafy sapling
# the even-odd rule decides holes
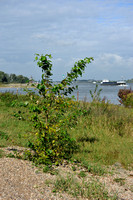
[[[15,100],[16,98],[16,100]],[[19,106],[25,102],[26,96],[16,96],[6,93],[0,95],[0,147],[27,146],[28,139],[33,137],[33,125],[29,120],[30,115],[26,107]],[[12,106],[12,102],[16,105]]]

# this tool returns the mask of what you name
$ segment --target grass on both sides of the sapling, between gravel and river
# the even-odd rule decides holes
[[[38,98],[38,97],[37,97]],[[26,95],[0,94],[0,146],[27,146],[34,138]],[[124,167],[132,165],[133,109],[105,102],[81,102],[82,112],[68,124],[68,132],[79,145],[73,155],[83,165],[112,165],[120,162]],[[76,107],[75,107],[76,108]],[[75,109],[74,108],[74,109]],[[67,115],[73,115],[68,110]],[[67,118],[66,118],[67,119]],[[69,118],[68,118],[69,119]],[[74,122],[76,120],[76,123]]]

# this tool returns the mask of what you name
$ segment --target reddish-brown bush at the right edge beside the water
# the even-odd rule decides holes
[[[120,89],[118,92],[119,102],[126,107],[133,107],[133,90]]]

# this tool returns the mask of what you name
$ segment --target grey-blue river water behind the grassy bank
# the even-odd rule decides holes
[[[79,94],[79,100],[83,100],[83,101],[87,101],[90,102],[92,100],[91,95],[90,95],[90,90],[92,91],[92,93],[95,90],[96,84],[93,83],[88,83],[88,82],[80,82],[77,83],[78,85],[78,90],[76,89],[71,96],[75,96],[75,98],[77,99],[77,93]],[[108,100],[110,103],[113,104],[119,104],[118,101],[118,92],[120,89],[129,89],[129,88],[133,88],[133,83],[127,84],[126,86],[102,86],[102,85],[98,85],[98,89],[102,89],[102,91],[100,92],[100,98],[103,99],[104,97],[106,98],[106,100]],[[32,88],[32,90],[34,90]],[[25,94],[24,90],[21,88],[0,88],[0,92],[12,92],[12,93],[20,93],[20,94]]]

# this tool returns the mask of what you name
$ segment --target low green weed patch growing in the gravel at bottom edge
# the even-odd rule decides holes
[[[70,174],[67,175],[67,177],[58,177],[54,183],[53,191],[67,192],[77,198],[81,197],[97,200],[117,199],[109,197],[108,192],[98,180],[90,179],[88,181],[82,180],[82,182],[79,182],[78,179]]]

